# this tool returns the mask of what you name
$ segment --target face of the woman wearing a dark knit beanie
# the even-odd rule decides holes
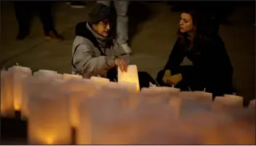
[[[93,30],[101,35],[101,36],[108,36],[108,33],[111,29],[110,22],[108,19],[105,19],[103,21],[100,21],[100,23],[97,23],[97,25],[93,25]]]

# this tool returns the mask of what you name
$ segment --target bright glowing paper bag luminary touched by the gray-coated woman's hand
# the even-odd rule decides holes
[[[139,84],[139,77],[137,74],[137,66],[136,65],[129,65],[127,67],[127,72],[121,72],[120,68],[118,68],[118,81],[119,83],[129,82],[136,84],[137,92],[140,91],[140,84]],[[125,84],[123,84],[125,85]],[[131,85],[128,85],[130,86]]]

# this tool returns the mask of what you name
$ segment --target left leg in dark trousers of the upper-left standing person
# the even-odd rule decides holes
[[[17,40],[22,40],[28,36],[31,23],[31,8],[28,1],[13,1],[15,8],[15,16],[19,25]]]

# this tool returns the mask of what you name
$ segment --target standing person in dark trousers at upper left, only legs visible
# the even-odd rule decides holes
[[[53,25],[50,1],[14,1],[15,16],[19,25],[17,40],[23,40],[29,35],[32,13],[36,12],[44,27],[44,36],[63,40]]]

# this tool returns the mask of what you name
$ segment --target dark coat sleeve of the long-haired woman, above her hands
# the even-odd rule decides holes
[[[177,39],[175,46],[173,46],[171,54],[169,54],[169,59],[167,64],[164,66],[164,70],[171,70],[172,72],[176,72],[183,62],[185,57],[185,53],[183,47],[179,43],[179,39]]]

